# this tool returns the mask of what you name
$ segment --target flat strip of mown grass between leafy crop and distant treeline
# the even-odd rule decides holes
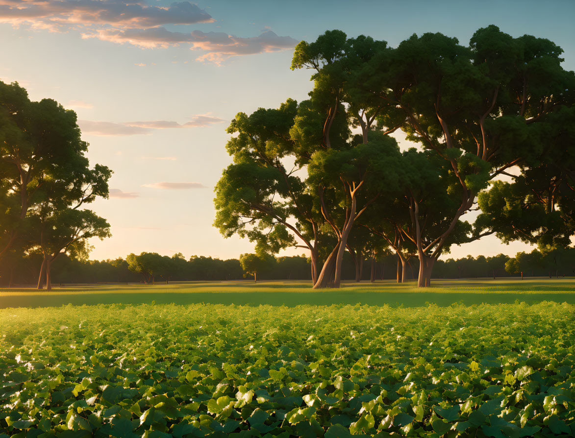
[[[574,278],[536,278],[521,281],[507,279],[438,280],[427,290],[417,289],[415,283],[398,285],[394,281],[374,284],[343,283],[340,290],[311,289],[309,282],[185,282],[170,285],[108,285],[82,288],[54,289],[51,292],[35,289],[0,290],[0,308],[45,307],[66,304],[139,304],[150,303],[212,303],[272,306],[367,304],[381,306],[425,306],[435,303],[449,306],[454,302],[466,305],[480,303],[527,303],[555,301],[575,303]]]

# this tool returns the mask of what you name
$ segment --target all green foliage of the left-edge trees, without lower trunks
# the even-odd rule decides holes
[[[20,240],[54,259],[110,235],[105,220],[78,210],[108,198],[112,175],[89,167],[87,148],[74,111],[52,99],[30,101],[18,83],[0,81],[0,256]]]

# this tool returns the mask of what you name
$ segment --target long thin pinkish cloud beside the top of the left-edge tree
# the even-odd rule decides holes
[[[197,114],[190,117],[189,122],[178,123],[168,120],[151,120],[137,122],[103,122],[91,120],[78,120],[80,129],[85,134],[98,136],[127,136],[149,134],[154,129],[174,129],[174,128],[203,128],[213,124],[222,123],[223,118],[214,117],[208,114]]]

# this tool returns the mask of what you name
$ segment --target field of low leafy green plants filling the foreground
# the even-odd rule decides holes
[[[0,310],[0,437],[575,435],[575,306]]]

